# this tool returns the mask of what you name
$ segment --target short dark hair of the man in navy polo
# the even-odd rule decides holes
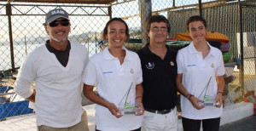
[[[166,19],[166,17],[163,16],[163,15],[153,15],[153,16],[151,16],[151,17],[149,18],[149,20],[148,20],[148,22],[147,22],[147,29],[146,29],[147,32],[149,32],[151,23],[153,23],[153,22],[165,22],[166,25],[167,25],[167,31],[168,31],[168,33],[170,33],[170,31],[171,31],[170,23],[169,23],[169,21]]]

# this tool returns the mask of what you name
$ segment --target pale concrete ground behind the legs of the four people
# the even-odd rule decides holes
[[[95,130],[95,105],[83,106],[87,112],[90,131]],[[256,116],[253,116],[252,103],[239,103],[225,106],[220,121],[220,131],[256,131]],[[0,122],[0,131],[35,131],[37,130],[34,114],[9,117]],[[182,131],[181,120],[178,120],[178,130]]]

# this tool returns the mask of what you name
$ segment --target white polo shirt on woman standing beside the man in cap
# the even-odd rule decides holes
[[[141,62],[138,55],[127,50],[122,65],[119,59],[109,53],[108,47],[90,58],[85,69],[84,83],[97,87],[98,94],[119,107],[131,87],[127,101],[135,104],[136,85],[143,83]],[[131,84],[132,83],[132,84]],[[142,117],[125,115],[115,117],[102,105],[96,105],[96,128],[104,131],[133,130],[142,126]]]

